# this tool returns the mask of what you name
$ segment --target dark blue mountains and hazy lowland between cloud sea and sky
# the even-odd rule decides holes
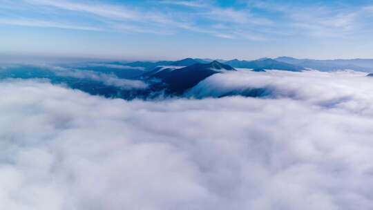
[[[229,61],[186,58],[178,61],[111,61],[66,66],[15,65],[3,68],[0,79],[45,78],[53,84],[66,84],[93,95],[123,99],[152,99],[157,97],[182,97],[207,77],[236,70],[266,71],[287,70],[300,72],[316,69],[323,71],[358,70],[373,77],[373,59],[314,60],[278,57],[254,61],[233,59]],[[129,81],[129,82],[128,82]],[[131,83],[134,82],[134,83]],[[126,88],[117,84],[144,84],[145,88]],[[267,90],[253,89],[240,95],[256,97]],[[229,93],[235,95],[237,93]]]

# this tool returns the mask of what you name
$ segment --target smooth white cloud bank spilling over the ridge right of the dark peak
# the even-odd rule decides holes
[[[372,78],[366,73],[339,71],[323,73],[307,70],[294,73],[283,70],[267,70],[256,73],[239,70],[216,74],[189,90],[194,97],[219,97],[229,93],[242,94],[245,91],[262,88],[265,96],[271,98],[289,97],[318,106],[352,106],[354,100],[370,104],[373,92]],[[357,104],[356,104],[357,105]],[[352,107],[351,107],[352,108]],[[356,107],[358,111],[360,108]]]

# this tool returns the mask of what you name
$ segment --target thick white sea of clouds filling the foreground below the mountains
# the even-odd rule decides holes
[[[189,90],[204,99],[161,101],[0,87],[0,209],[373,208],[361,73],[216,74]]]

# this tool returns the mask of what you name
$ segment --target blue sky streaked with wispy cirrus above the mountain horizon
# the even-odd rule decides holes
[[[2,55],[373,57],[373,1],[1,0]]]

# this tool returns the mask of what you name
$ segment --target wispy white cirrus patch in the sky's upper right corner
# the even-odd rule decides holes
[[[277,3],[276,1],[248,1],[247,6],[276,12],[284,24],[281,30],[293,35],[307,34],[315,37],[345,37],[356,31],[366,30],[370,25],[367,16],[369,6],[356,6],[346,3],[315,2]]]

